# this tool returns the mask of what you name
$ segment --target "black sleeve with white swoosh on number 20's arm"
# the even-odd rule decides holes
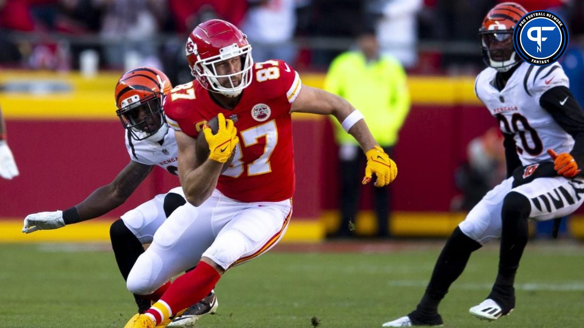
[[[579,168],[584,168],[584,112],[565,86],[547,90],[540,98],[540,106],[547,110],[564,131],[574,138],[570,154]]]

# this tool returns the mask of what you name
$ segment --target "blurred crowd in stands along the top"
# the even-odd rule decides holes
[[[573,47],[581,48],[582,1],[516,1],[528,11],[557,13],[571,27]],[[256,61],[279,58],[300,69],[324,70],[367,26],[376,30],[382,53],[409,72],[476,71],[477,30],[497,2],[502,1],[0,0],[0,67],[91,71],[92,65],[141,64],[182,82],[188,78],[182,69],[186,34],[204,20],[221,18],[248,35]],[[582,57],[576,54],[571,63],[579,65]]]

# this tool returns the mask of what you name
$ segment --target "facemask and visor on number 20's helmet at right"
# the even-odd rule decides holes
[[[513,30],[486,30],[479,32],[483,61],[499,72],[507,72],[517,61],[513,48]]]

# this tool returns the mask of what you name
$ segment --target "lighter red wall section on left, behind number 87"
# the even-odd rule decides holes
[[[0,180],[0,218],[65,210],[110,183],[130,161],[118,121],[10,120],[6,125],[20,176]],[[322,160],[318,139],[323,127],[322,121],[294,121],[296,218],[320,214],[320,174],[314,168]],[[176,186],[178,177],[156,168],[125,204],[106,216],[117,217]]]

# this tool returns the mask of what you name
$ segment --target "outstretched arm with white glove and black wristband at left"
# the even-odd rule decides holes
[[[109,184],[99,187],[84,201],[65,211],[39,212],[27,215],[22,232],[61,228],[67,224],[100,217],[123,204],[140,183],[146,179],[153,166],[130,160],[126,168]]]

